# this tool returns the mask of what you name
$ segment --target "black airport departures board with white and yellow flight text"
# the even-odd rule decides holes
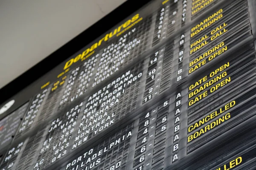
[[[152,0],[0,105],[0,170],[255,170],[256,1]]]

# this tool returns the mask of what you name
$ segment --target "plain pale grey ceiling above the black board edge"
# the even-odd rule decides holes
[[[0,88],[125,0],[1,0]]]

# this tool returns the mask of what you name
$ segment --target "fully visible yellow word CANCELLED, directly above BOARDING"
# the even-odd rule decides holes
[[[234,105],[236,105],[236,101],[233,100],[232,102],[228,103],[224,107],[212,112],[211,114],[205,116],[203,119],[199,120],[193,125],[190,125],[188,128],[188,132],[192,132],[193,130],[198,129],[198,127],[201,127],[205,123],[209,122],[210,120],[214,119],[215,117],[219,116],[221,113],[224,113],[225,111],[229,110],[232,108]]]

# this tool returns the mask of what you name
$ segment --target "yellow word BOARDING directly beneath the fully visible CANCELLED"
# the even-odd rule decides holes
[[[192,142],[194,139],[199,138],[200,136],[202,136],[204,133],[209,132],[210,130],[212,130],[214,127],[217,127],[219,125],[221,125],[223,122],[227,121],[228,119],[230,119],[230,113],[225,114],[224,116],[222,116],[221,118],[215,120],[214,122],[210,123],[209,125],[201,128],[200,130],[196,131],[195,133],[193,133],[192,135],[190,135],[188,137],[188,143]]]

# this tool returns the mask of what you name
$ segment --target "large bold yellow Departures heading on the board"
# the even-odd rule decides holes
[[[73,63],[78,62],[79,60],[84,61],[84,59],[87,59],[90,57],[96,48],[98,48],[100,45],[102,45],[102,42],[108,41],[111,37],[113,37],[116,34],[119,34],[122,29],[128,28],[131,24],[133,24],[135,21],[137,21],[140,18],[139,14],[134,15],[131,19],[127,20],[125,23],[123,23],[121,26],[116,28],[113,32],[110,32],[105,35],[102,39],[99,40],[99,42],[96,42],[93,44],[90,48],[87,48],[84,50],[81,54],[77,55],[75,58],[70,59],[69,61],[66,62],[64,65],[64,70],[69,68]],[[141,18],[142,20],[142,18]],[[131,27],[130,27],[131,28]],[[127,29],[126,29],[127,30]],[[123,32],[122,32],[123,33]]]

